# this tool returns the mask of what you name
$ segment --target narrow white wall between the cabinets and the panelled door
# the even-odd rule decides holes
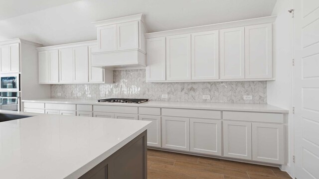
[[[293,178],[293,18],[292,14],[288,12],[293,8],[293,0],[277,0],[272,15],[277,15],[276,22],[273,27],[274,43],[273,43],[273,58],[276,80],[267,82],[267,97],[268,104],[276,105],[278,107],[290,110],[287,124],[287,150],[288,150],[288,165],[281,167],[282,170],[287,171]]]

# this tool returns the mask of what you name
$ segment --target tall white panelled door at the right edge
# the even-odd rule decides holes
[[[294,0],[295,174],[319,179],[319,1]]]

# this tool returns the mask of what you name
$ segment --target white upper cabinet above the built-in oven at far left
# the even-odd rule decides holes
[[[20,72],[19,43],[0,46],[0,73]]]

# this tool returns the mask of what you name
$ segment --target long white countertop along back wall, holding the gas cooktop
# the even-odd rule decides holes
[[[225,110],[225,111],[246,111],[246,112],[275,112],[288,113],[288,109],[283,109],[270,104],[247,104],[247,103],[212,103],[212,102],[174,102],[174,101],[148,101],[140,104],[132,103],[109,103],[97,102],[96,99],[66,99],[47,98],[22,100],[23,102],[45,102],[45,103],[66,103],[66,104],[98,104],[98,105],[119,105],[119,106],[139,106],[139,107],[161,107],[161,108],[184,108],[184,109],[205,109],[205,110]]]

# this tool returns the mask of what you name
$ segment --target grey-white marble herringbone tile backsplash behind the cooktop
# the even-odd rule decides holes
[[[267,82],[146,83],[145,78],[145,70],[118,70],[114,71],[114,84],[51,85],[51,97],[267,103]],[[168,98],[161,98],[161,94],[168,94]],[[202,99],[202,95],[210,95],[210,99]],[[253,99],[244,100],[243,95],[252,95]]]

